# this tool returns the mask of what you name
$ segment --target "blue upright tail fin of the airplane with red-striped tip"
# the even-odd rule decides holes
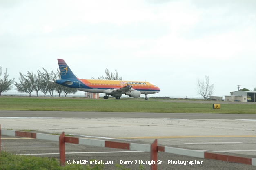
[[[61,79],[77,79],[63,59],[58,59]]]

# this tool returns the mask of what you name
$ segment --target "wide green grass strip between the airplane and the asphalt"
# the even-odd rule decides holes
[[[59,99],[1,97],[0,110],[61,110],[118,112],[176,112],[176,113],[256,113],[255,104],[163,102],[154,100]]]

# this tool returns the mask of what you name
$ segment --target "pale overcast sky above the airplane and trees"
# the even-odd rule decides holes
[[[156,96],[193,96],[205,75],[215,96],[256,87],[255,0],[0,0],[0,66],[58,68],[78,78],[118,71],[154,82]],[[13,86],[14,91],[15,86]]]

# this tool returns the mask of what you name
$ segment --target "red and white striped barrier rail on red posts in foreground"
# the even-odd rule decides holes
[[[157,146],[157,139],[151,145],[149,145],[149,144],[105,141],[105,140],[99,140],[99,139],[87,139],[87,138],[81,138],[81,137],[67,137],[65,136],[64,132],[62,132],[61,135],[51,135],[51,134],[43,134],[43,133],[0,129],[0,135],[14,136],[14,137],[15,136],[30,137],[35,139],[49,140],[49,141],[59,141],[61,165],[65,165],[65,142],[67,142],[72,144],[81,144],[81,145],[88,145],[88,146],[99,146],[99,147],[109,147],[109,148],[151,152],[151,160],[154,160],[155,162],[157,162],[157,152],[161,151],[161,152],[167,152],[167,153],[178,154],[178,155],[207,158],[207,159],[216,159],[216,160],[229,161],[229,162],[235,162],[235,163],[245,163],[245,164],[256,166],[256,158],[237,157],[232,155],[210,153],[210,152],[189,150],[189,149],[183,149],[183,148],[174,148],[169,146]],[[0,140],[0,144],[1,144],[1,140]],[[152,164],[151,170],[157,170],[157,164]]]

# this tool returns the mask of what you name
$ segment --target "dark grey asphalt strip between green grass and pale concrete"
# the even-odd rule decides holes
[[[0,110],[0,117],[256,119],[256,114]]]

